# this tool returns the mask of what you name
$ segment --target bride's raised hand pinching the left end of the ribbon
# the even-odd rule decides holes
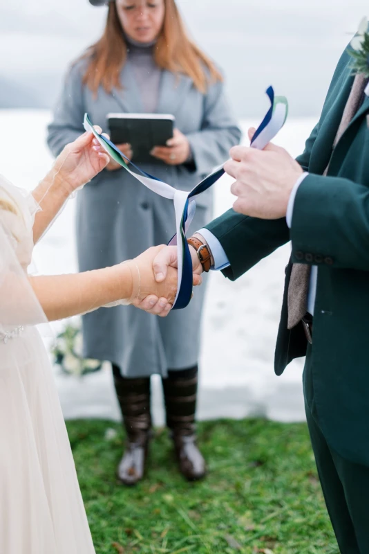
[[[102,132],[100,127],[95,126],[95,129],[98,133]],[[55,161],[54,170],[68,194],[71,194],[100,173],[109,159],[100,144],[96,145],[93,134],[86,132],[66,145]]]

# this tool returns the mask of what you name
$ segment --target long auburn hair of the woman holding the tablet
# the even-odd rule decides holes
[[[223,81],[215,64],[187,36],[175,0],[164,0],[162,30],[155,44],[155,62],[161,69],[188,75],[196,89],[205,93],[209,84]],[[120,73],[127,59],[127,45],[115,1],[109,2],[108,19],[101,39],[84,54],[89,63],[83,82],[95,94],[100,85],[111,93],[122,89]]]

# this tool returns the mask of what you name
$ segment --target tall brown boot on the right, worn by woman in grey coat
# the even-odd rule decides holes
[[[198,390],[198,367],[169,371],[162,379],[167,426],[171,430],[180,472],[189,481],[202,479],[205,460],[196,444],[195,412]]]

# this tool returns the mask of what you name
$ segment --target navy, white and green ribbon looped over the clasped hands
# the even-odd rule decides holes
[[[252,148],[257,148],[258,150],[263,150],[274,139],[274,136],[281,130],[287,118],[288,105],[286,98],[274,96],[273,87],[267,89],[267,96],[270,100],[270,108],[261,125],[256,130],[251,143]],[[223,166],[205,177],[190,192],[178,190],[164,183],[161,179],[149,175],[149,173],[146,173],[129,161],[111,141],[106,139],[102,134],[97,133],[88,114],[84,116],[84,128],[86,131],[92,132],[109,156],[135,177],[135,179],[138,179],[144,186],[152,190],[153,193],[173,200],[176,212],[176,234],[169,244],[177,245],[178,249],[178,289],[173,310],[180,310],[186,307],[189,305],[192,296],[192,261],[186,233],[195,214],[195,198],[213,186],[224,175]],[[131,168],[134,168],[137,172],[132,171]]]

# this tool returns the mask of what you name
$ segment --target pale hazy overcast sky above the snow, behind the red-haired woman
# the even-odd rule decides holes
[[[224,70],[238,118],[260,117],[273,84],[291,116],[316,116],[362,0],[177,0],[191,35]],[[88,0],[0,6],[0,108],[55,104],[68,64],[99,37],[105,8]]]

